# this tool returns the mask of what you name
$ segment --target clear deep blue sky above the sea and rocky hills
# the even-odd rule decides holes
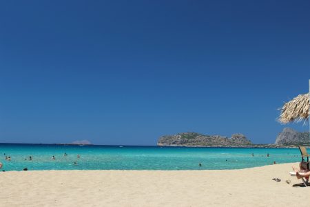
[[[1,1],[0,142],[273,143],[309,90],[310,1]]]

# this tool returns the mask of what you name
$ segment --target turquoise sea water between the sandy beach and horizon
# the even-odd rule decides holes
[[[63,156],[64,153],[68,156]],[[254,157],[251,156],[254,153]],[[267,157],[267,154],[270,156]],[[29,156],[32,160],[29,160]],[[55,160],[52,156],[55,156]],[[81,157],[78,159],[77,155]],[[11,161],[5,159],[11,157]],[[297,148],[0,144],[1,170],[211,170],[300,161]],[[76,162],[76,164],[74,164]],[[198,166],[202,164],[202,166]]]

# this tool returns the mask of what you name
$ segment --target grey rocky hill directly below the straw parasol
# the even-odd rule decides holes
[[[288,145],[288,144],[309,144],[310,137],[309,132],[297,132],[291,128],[284,128],[279,133],[275,144]]]

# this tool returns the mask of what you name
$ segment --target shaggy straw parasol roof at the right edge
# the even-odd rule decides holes
[[[298,97],[295,97],[291,101],[285,103],[285,105],[280,109],[281,114],[278,121],[282,124],[287,124],[289,122],[300,122],[302,120],[306,121],[309,119],[309,107],[309,93],[298,95]]]

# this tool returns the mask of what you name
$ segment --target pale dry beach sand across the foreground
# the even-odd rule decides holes
[[[309,206],[291,166],[0,172],[0,206]]]

